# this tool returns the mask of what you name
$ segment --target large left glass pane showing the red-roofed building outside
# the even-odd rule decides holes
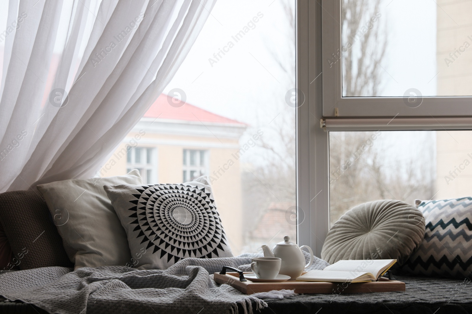
[[[207,175],[235,255],[284,235],[296,242],[294,88],[295,0],[217,1],[172,81],[118,147],[136,147],[129,161],[113,155],[102,173],[137,168],[151,184]]]

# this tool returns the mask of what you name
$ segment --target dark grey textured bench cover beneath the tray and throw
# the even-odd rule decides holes
[[[448,278],[396,276],[406,283],[405,292],[305,294],[266,299],[262,314],[303,313],[472,313],[472,283]],[[255,306],[253,306],[255,308]],[[0,313],[47,313],[20,301],[0,299]],[[244,313],[241,309],[240,313]],[[257,313],[257,312],[256,312]]]

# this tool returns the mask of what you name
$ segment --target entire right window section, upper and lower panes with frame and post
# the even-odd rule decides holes
[[[298,233],[315,254],[358,203],[470,196],[466,5],[297,1]]]

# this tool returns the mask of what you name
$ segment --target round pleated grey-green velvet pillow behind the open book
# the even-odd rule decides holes
[[[321,258],[330,264],[340,259],[396,258],[403,264],[424,236],[421,211],[404,201],[380,200],[348,210],[329,230]]]

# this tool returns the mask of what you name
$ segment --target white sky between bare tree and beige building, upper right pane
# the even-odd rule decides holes
[[[410,88],[436,96],[436,8],[431,0],[384,0],[388,50],[381,96],[403,96]]]

